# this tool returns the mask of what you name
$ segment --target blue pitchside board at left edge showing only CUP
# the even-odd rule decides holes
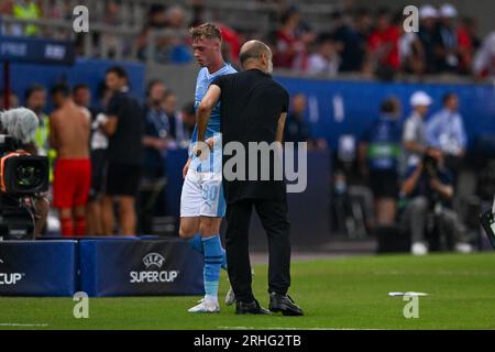
[[[77,241],[0,242],[0,296],[72,296]]]

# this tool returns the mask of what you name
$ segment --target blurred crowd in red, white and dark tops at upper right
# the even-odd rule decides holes
[[[419,32],[405,32],[402,9],[363,8],[336,12],[328,32],[314,33],[292,9],[273,36],[275,66],[326,76],[360,72],[383,79],[399,73],[484,76],[493,69],[493,53],[485,53],[488,46],[479,38],[474,19],[461,18],[450,4],[424,6],[419,19]]]

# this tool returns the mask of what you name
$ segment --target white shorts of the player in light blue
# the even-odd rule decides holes
[[[189,168],[180,195],[180,218],[226,216],[222,174]]]

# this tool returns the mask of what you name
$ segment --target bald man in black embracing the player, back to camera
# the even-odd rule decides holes
[[[290,226],[286,185],[283,177],[276,176],[282,173],[282,168],[277,169],[282,163],[277,163],[276,156],[282,152],[289,96],[270,75],[272,52],[264,43],[245,43],[240,59],[244,70],[213,80],[197,111],[198,142],[202,142],[211,109],[221,102],[222,175],[228,205],[227,261],[237,297],[237,314],[268,314],[254,298],[251,288],[249,226],[254,206],[268,237],[268,308],[285,316],[301,316],[302,310],[287,295],[290,285]],[[227,166],[232,164],[233,155],[226,155],[227,147],[241,146],[244,152],[252,152],[253,145],[263,144],[272,148],[267,155],[262,155],[262,161],[257,158],[258,150],[255,150],[257,167],[245,161],[237,165],[234,173],[242,174],[243,170],[249,177],[232,177]],[[196,147],[197,155],[207,152]],[[270,162],[263,163],[264,157]],[[270,177],[260,177],[260,172],[270,174]]]

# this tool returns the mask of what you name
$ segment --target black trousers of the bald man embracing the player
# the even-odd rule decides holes
[[[243,199],[227,207],[227,263],[229,279],[240,301],[254,300],[251,288],[249,228],[253,207],[268,237],[268,293],[285,295],[290,286],[290,224],[287,202]]]

